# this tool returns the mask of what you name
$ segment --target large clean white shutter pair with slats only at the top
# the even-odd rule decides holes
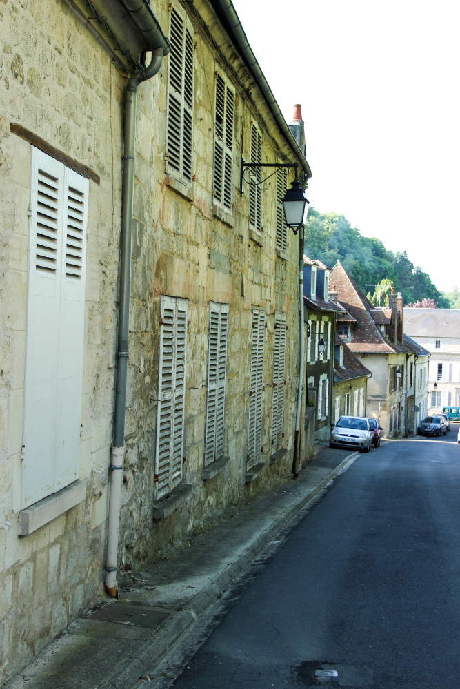
[[[79,476],[88,180],[32,147],[21,505]]]

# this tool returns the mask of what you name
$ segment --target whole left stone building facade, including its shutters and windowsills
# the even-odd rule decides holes
[[[304,151],[231,3],[134,5],[0,8],[0,683],[103,597],[111,514],[126,570],[291,473],[293,172],[241,159]]]

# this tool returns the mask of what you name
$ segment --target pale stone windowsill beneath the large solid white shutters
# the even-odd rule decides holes
[[[19,512],[19,536],[27,536],[37,528],[49,524],[75,507],[86,497],[86,479],[66,486],[58,493],[43,497],[30,507]]]

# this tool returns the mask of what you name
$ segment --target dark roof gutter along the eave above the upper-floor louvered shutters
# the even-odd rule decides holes
[[[305,181],[308,181],[308,179],[310,179],[310,177],[312,176],[310,165],[308,165],[306,157],[300,150],[299,145],[297,144],[297,141],[295,140],[294,136],[292,136],[292,132],[290,131],[288,124],[286,123],[286,120],[284,119],[283,114],[279,109],[279,105],[276,99],[274,98],[274,95],[272,94],[270,86],[268,85],[265,76],[263,76],[263,72],[254,56],[254,53],[251,50],[251,47],[248,43],[248,39],[246,38],[246,34],[243,30],[241,22],[239,21],[237,12],[235,11],[231,0],[214,0],[213,4],[217,12],[219,12],[219,14],[221,14],[225,19],[228,28],[230,28],[230,31],[232,32],[232,35],[234,37],[234,41],[237,43],[237,46],[241,51],[241,54],[243,55],[246,63],[248,64],[248,67],[250,68],[250,71],[252,72],[254,79],[257,81],[257,85],[259,86],[263,94],[263,97],[266,99],[268,105],[270,105],[270,109],[274,114],[274,119],[277,121],[277,124],[279,125],[281,132],[283,132],[284,136],[286,136],[286,138],[288,139],[288,142],[290,143],[290,146],[294,154],[297,156],[297,158],[299,158],[299,161],[301,162],[302,169],[305,174]]]

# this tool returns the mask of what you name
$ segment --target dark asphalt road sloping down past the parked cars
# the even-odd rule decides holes
[[[458,425],[359,455],[161,686],[458,689]]]

